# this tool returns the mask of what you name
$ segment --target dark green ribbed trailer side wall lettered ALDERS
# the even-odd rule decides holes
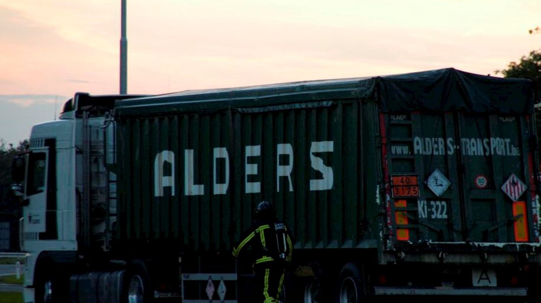
[[[229,249],[252,222],[255,205],[268,199],[294,230],[296,246],[356,246],[365,201],[375,199],[377,105],[362,102],[351,87],[307,89],[299,100],[298,86],[282,89],[291,93],[237,99],[250,107],[231,107],[235,97],[213,101],[229,94],[219,92],[204,97],[210,108],[197,100],[201,109],[162,112],[177,106],[168,103],[151,105],[156,113],[143,106],[122,114],[121,237]],[[200,95],[152,101],[194,97]]]

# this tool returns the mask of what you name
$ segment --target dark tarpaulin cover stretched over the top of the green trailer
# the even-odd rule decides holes
[[[379,102],[384,112],[461,111],[510,115],[533,112],[530,80],[503,79],[445,68],[382,77],[202,89],[119,100],[116,102],[116,115],[173,114],[227,108],[272,111],[305,108],[309,106],[307,102],[331,104],[345,99]]]

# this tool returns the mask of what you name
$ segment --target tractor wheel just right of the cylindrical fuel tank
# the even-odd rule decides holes
[[[124,280],[126,283],[126,302],[150,303],[153,300],[153,288],[144,261],[134,260],[127,273],[126,280]]]

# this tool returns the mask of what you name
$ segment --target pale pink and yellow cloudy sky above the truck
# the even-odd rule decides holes
[[[541,25],[539,0],[127,3],[128,93],[444,67],[493,74],[541,48],[527,32]],[[117,93],[119,40],[120,0],[0,0],[0,138],[28,137],[54,117],[55,99]]]

